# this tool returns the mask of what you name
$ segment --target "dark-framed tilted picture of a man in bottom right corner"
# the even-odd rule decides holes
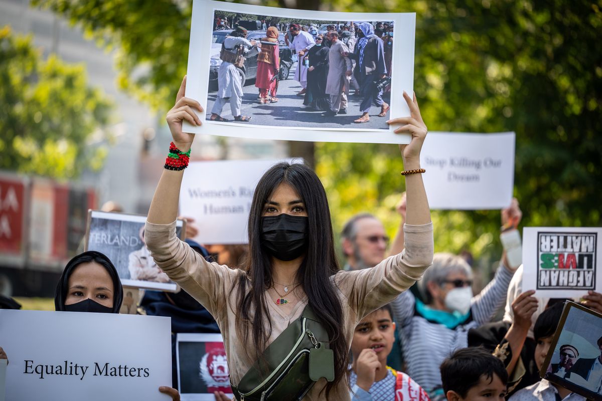
[[[539,373],[587,399],[602,400],[602,314],[567,301]]]

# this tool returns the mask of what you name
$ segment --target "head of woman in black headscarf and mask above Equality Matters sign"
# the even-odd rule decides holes
[[[117,269],[107,256],[96,251],[69,260],[54,294],[58,311],[119,313],[122,301]]]

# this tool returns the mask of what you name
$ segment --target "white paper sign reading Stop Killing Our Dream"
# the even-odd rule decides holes
[[[420,152],[431,209],[485,210],[510,206],[514,132],[429,132]]]

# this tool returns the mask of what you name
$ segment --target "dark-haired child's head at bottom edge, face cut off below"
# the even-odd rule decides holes
[[[447,401],[504,401],[506,397],[506,367],[484,348],[459,349],[440,369]]]

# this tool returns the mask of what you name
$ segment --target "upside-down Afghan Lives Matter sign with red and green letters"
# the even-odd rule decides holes
[[[547,298],[579,298],[602,291],[602,228],[525,227],[523,291]]]

